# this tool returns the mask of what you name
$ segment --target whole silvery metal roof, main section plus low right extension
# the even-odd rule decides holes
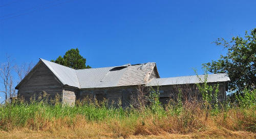
[[[63,85],[77,88],[108,88],[118,86],[132,86],[146,84],[147,86],[165,86],[178,84],[199,83],[199,78],[194,76],[181,76],[171,78],[154,78],[150,82],[145,79],[153,71],[156,63],[140,65],[126,64],[123,66],[91,68],[75,70],[47,60],[40,59],[56,75]],[[199,75],[204,78],[204,75]],[[208,82],[229,81],[225,73],[209,74]]]

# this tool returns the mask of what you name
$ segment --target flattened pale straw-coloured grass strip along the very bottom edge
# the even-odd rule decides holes
[[[112,133],[106,133],[101,129],[70,130],[63,128],[55,131],[33,131],[29,129],[20,129],[13,131],[0,132],[0,138],[123,138],[114,137]],[[162,133],[159,135],[130,135],[127,138],[256,138],[255,133],[244,131],[231,131],[223,129],[211,129],[204,132],[178,134]]]

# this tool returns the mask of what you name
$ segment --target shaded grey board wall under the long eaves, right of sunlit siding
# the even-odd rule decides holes
[[[211,86],[217,85],[210,84]],[[224,101],[226,99],[226,88],[225,83],[219,83],[218,99],[219,101]],[[86,97],[96,98],[97,100],[103,100],[103,98],[107,99],[109,103],[113,103],[117,106],[119,100],[122,102],[122,106],[126,107],[131,104],[131,95],[138,93],[138,86],[127,86],[127,87],[114,87],[114,88],[97,88],[97,89],[81,89],[77,94],[77,99],[83,99]],[[157,87],[153,87],[157,90]],[[168,103],[170,99],[176,100],[178,97],[179,89],[182,92],[183,100],[193,100],[202,99],[201,93],[197,90],[197,86],[195,84],[188,85],[169,85],[169,86],[159,86],[158,90],[160,93],[159,100],[162,104]],[[144,89],[148,91],[148,89]],[[147,94],[147,93],[145,93]]]

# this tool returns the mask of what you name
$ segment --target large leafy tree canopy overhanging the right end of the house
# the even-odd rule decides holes
[[[217,61],[203,64],[212,73],[227,73],[230,77],[229,90],[241,92],[254,90],[256,86],[256,28],[244,37],[233,37],[231,41],[218,38],[218,46],[227,49]]]

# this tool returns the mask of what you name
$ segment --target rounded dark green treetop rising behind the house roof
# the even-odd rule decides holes
[[[67,66],[73,69],[88,69],[90,66],[86,66],[86,59],[83,58],[78,48],[68,50],[63,58],[59,56],[55,61],[51,60],[51,62],[55,62],[57,64]]]

